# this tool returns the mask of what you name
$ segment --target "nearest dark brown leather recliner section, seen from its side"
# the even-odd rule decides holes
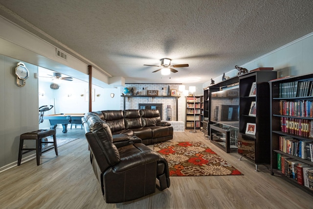
[[[82,118],[90,162],[107,203],[131,201],[170,186],[166,160],[141,143],[121,135],[116,146],[107,123],[94,113]]]

